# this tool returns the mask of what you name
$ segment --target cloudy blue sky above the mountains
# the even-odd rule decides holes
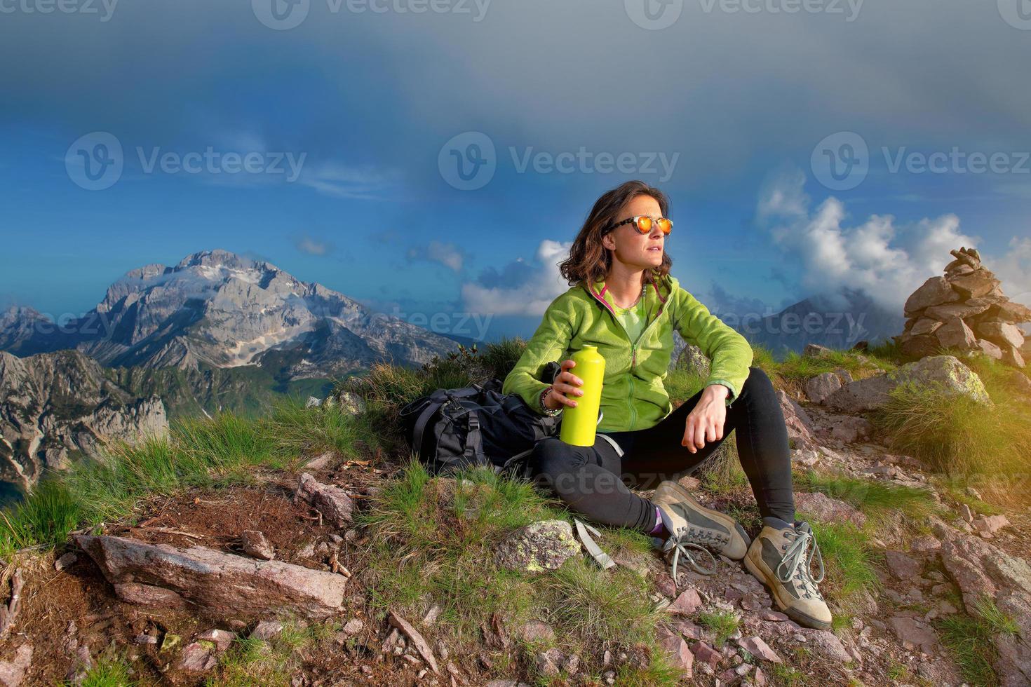
[[[670,196],[673,274],[718,313],[900,308],[962,242],[1031,302],[1026,0],[299,1],[0,0],[0,305],[82,312],[225,248],[528,336],[628,178]]]

